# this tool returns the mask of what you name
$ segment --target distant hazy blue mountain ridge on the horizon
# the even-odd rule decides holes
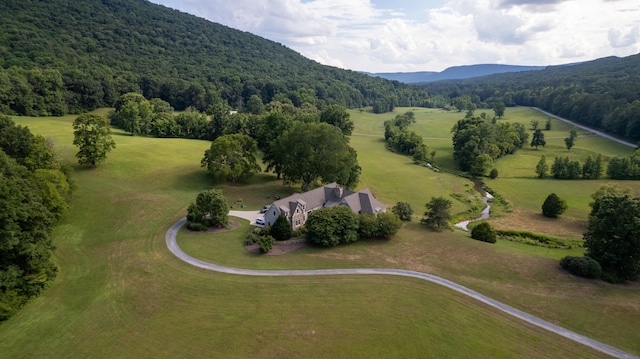
[[[545,66],[518,66],[518,65],[467,65],[453,66],[442,72],[420,71],[420,72],[385,72],[385,73],[369,73],[367,75],[373,77],[382,77],[387,80],[395,80],[407,84],[420,82],[433,82],[440,80],[459,80],[470,79],[473,77],[487,76],[493,74],[502,74],[506,72],[522,72],[542,70]]]

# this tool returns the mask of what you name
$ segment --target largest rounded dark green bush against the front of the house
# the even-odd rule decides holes
[[[358,240],[358,215],[347,206],[321,208],[309,214],[305,227],[307,238],[324,247]]]

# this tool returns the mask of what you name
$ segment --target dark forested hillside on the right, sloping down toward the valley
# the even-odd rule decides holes
[[[640,55],[607,57],[534,72],[423,84],[451,104],[536,106],[558,116],[640,140]]]

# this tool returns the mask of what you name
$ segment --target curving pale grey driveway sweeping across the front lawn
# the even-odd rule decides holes
[[[232,211],[232,212],[244,212],[244,211]],[[229,213],[230,215],[234,215]],[[242,217],[244,218],[244,217]],[[166,234],[166,242],[169,251],[173,253],[179,259],[199,268],[212,270],[221,273],[228,274],[239,274],[239,275],[250,275],[250,276],[314,276],[314,275],[357,275],[357,274],[375,274],[375,275],[398,275],[403,277],[412,277],[419,278],[429,282],[433,282],[436,284],[440,284],[447,288],[453,289],[456,292],[462,293],[469,297],[479,300],[482,303],[488,304],[496,309],[499,309],[507,314],[510,314],[516,318],[520,318],[528,323],[541,327],[543,329],[549,330],[556,334],[559,334],[565,338],[571,339],[575,342],[587,345],[595,350],[603,352],[605,354],[614,356],[616,358],[634,358],[640,359],[634,355],[631,355],[622,350],[616,349],[607,344],[601,343],[599,341],[593,340],[591,338],[585,337],[584,335],[580,335],[578,333],[572,332],[555,324],[549,323],[545,320],[542,320],[538,317],[535,317],[531,314],[527,314],[521,310],[518,310],[514,307],[506,305],[504,303],[498,302],[497,300],[491,299],[485,295],[482,295],[474,290],[471,290],[467,287],[464,287],[460,284],[456,284],[450,280],[440,278],[438,276],[415,272],[404,269],[387,269],[387,268],[357,268],[357,269],[313,269],[313,270],[257,270],[257,269],[242,269],[242,268],[231,268],[224,267],[221,265],[208,263],[201,261],[199,259],[193,258],[190,255],[178,247],[178,243],[176,242],[176,234],[182,228],[182,226],[186,223],[186,218],[179,220],[174,223],[171,228],[167,231]]]

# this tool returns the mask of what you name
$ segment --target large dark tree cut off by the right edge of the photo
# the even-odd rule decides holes
[[[605,194],[593,204],[586,255],[623,280],[640,276],[640,199]]]

